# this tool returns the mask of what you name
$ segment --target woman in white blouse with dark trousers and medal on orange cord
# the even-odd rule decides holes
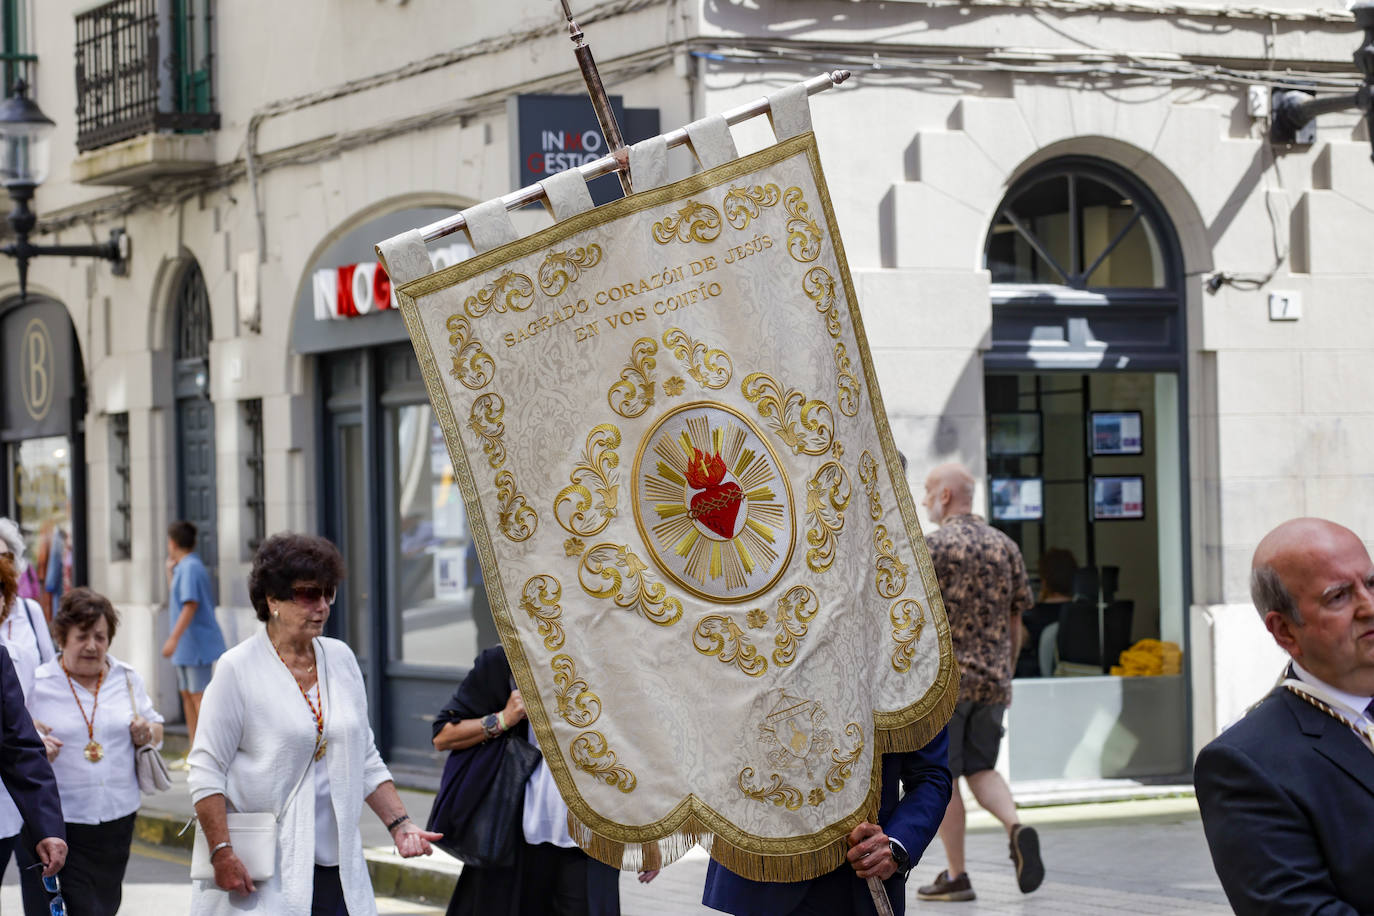
[[[62,895],[91,916],[120,909],[140,801],[135,748],[162,742],[162,717],[143,678],[110,655],[118,623],[103,595],[63,595],[52,617],[62,654],[38,666],[29,696],[29,711],[58,742],[52,773],[70,847]]]

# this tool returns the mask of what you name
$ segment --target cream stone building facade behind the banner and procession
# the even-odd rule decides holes
[[[495,630],[372,244],[596,154],[584,111],[540,99],[581,92],[556,4],[0,5],[7,66],[58,122],[41,240],[132,240],[124,276],[33,261],[22,305],[0,264],[5,512],[69,530],[73,580],[115,600],[114,651],[158,673],[165,711],[166,523],[201,526],[231,640],[256,626],[257,542],[330,536],[349,564],[331,626],[383,754],[433,777],[429,717]],[[1285,81],[1353,91],[1349,16],[573,5],[638,136],[855,71],[812,111],[911,482],[962,460],[1033,574],[1048,548],[1081,567],[1046,641],[1046,670],[1080,676],[1018,681],[1009,772],[1186,773],[1276,674],[1257,540],[1304,514],[1374,531],[1374,413],[1352,397],[1374,383],[1369,126],[1325,115],[1275,147],[1263,117]],[[1182,672],[1101,673],[1140,639]]]

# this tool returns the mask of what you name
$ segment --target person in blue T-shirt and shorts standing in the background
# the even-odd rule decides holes
[[[176,666],[187,737],[192,744],[195,722],[201,717],[201,696],[210,684],[214,661],[224,654],[224,633],[214,619],[210,574],[195,553],[195,525],[191,522],[172,522],[168,526],[168,567],[172,574],[168,607],[172,608],[174,622],[172,634],[162,645],[162,658],[170,658]]]

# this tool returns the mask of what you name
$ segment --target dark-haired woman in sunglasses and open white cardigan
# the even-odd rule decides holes
[[[357,659],[323,636],[344,559],[322,537],[276,534],[249,574],[265,626],[220,656],[191,748],[191,798],[213,880],[192,882],[191,913],[374,916],[363,802],[396,850],[427,856],[438,834],[405,813],[376,753]],[[278,817],[276,869],[254,882],[234,850],[227,812]],[[256,895],[257,901],[245,900]]]

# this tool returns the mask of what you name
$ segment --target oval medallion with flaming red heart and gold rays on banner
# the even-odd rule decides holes
[[[639,444],[635,522],[658,569],[709,602],[745,602],[787,569],[791,485],[741,413],[698,401],[665,413]]]

